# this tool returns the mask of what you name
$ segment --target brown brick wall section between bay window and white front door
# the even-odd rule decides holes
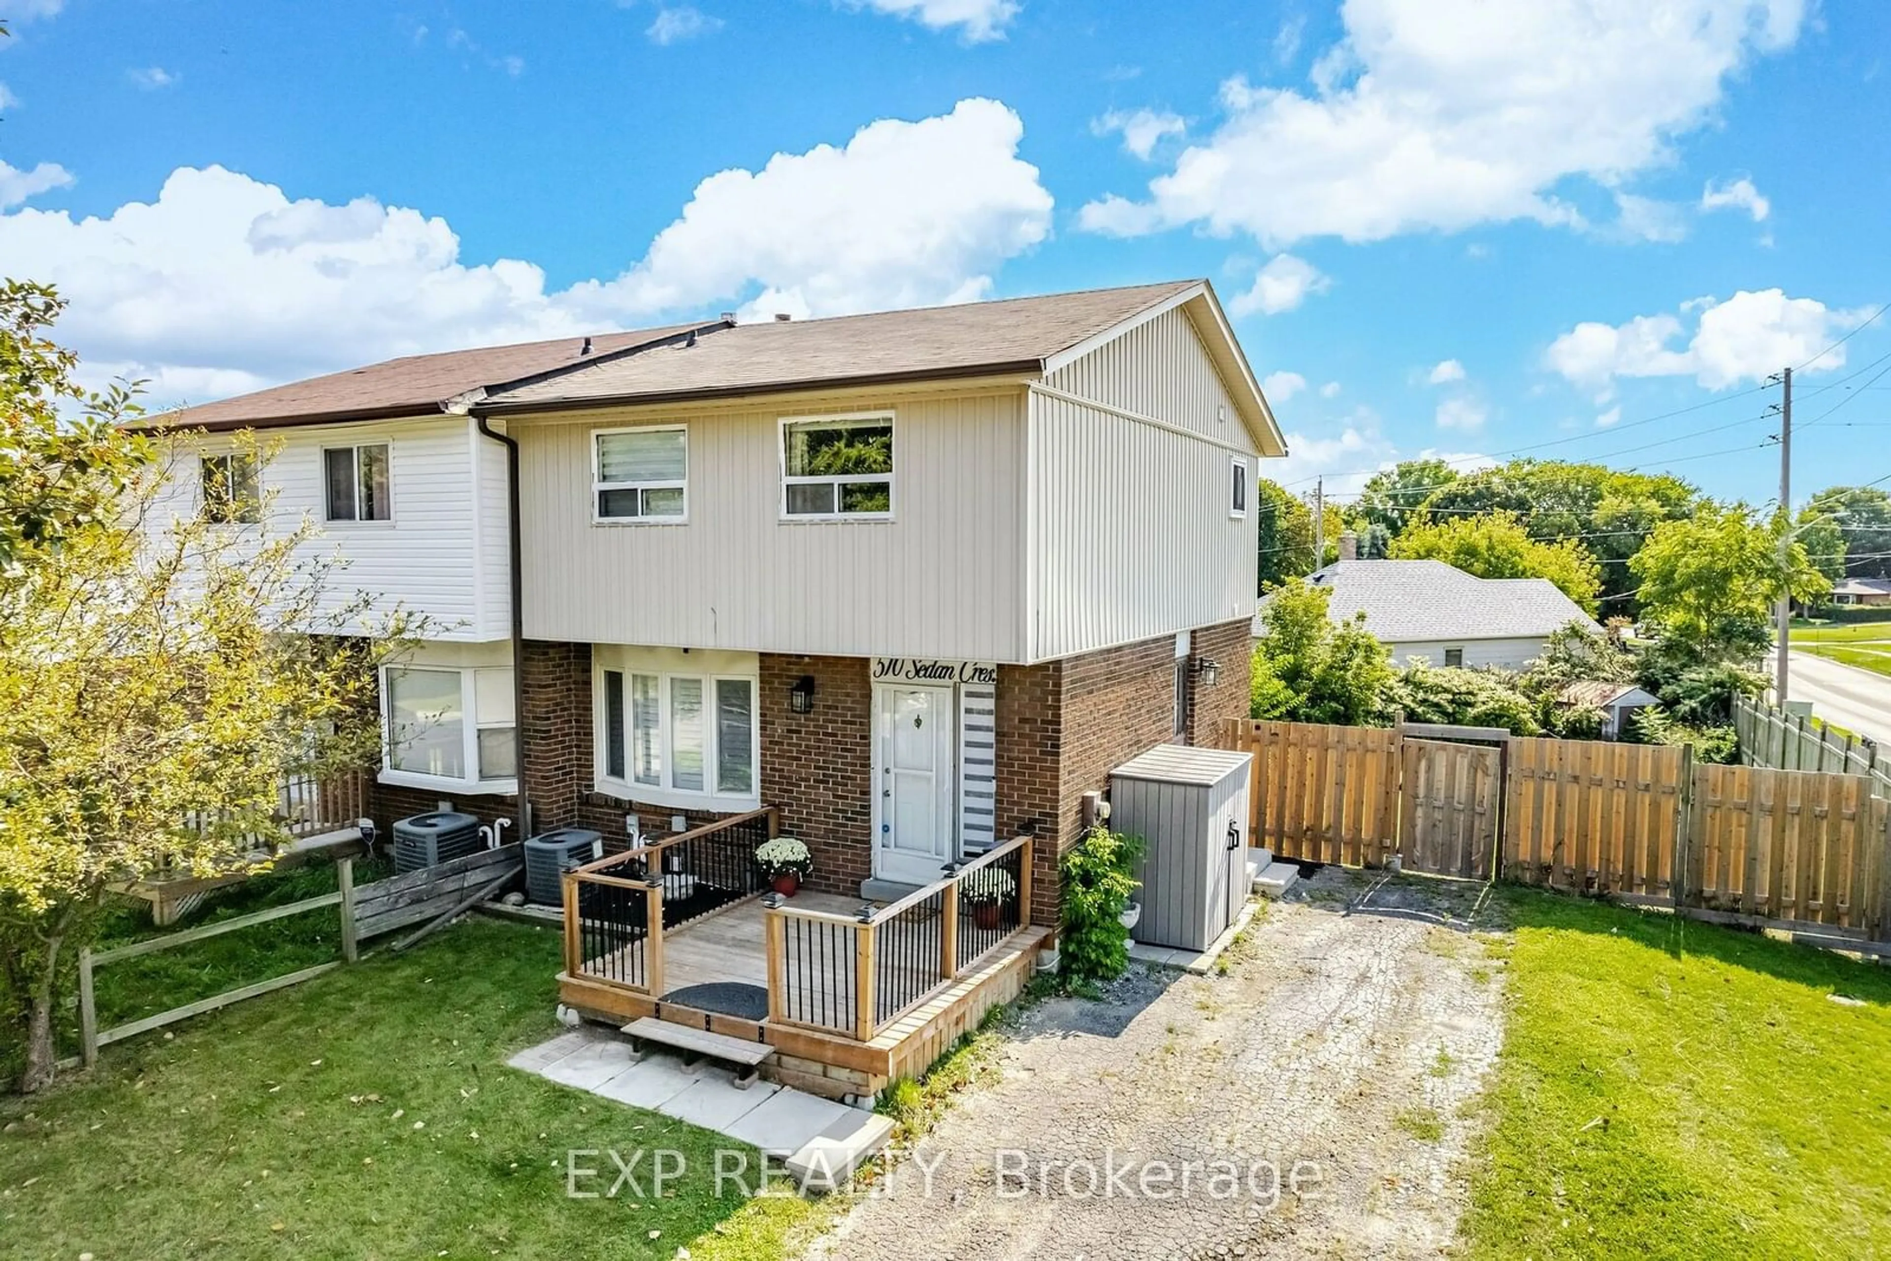
[[[813,675],[813,711],[789,688]],[[762,802],[815,860],[809,889],[855,896],[874,873],[874,684],[859,656],[762,654]]]

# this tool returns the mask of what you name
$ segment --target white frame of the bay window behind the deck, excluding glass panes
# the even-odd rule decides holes
[[[611,773],[611,705],[607,675],[624,679],[624,773]],[[635,681],[656,679],[656,783],[637,779],[637,705]],[[692,679],[703,686],[703,788],[675,786],[675,724],[671,720],[671,681]],[[749,792],[722,792],[717,785],[722,769],[722,724],[717,720],[717,684],[745,682],[749,686]],[[605,796],[664,805],[671,809],[702,809],[739,813],[760,809],[762,802],[762,679],[756,673],[728,669],[686,669],[671,662],[656,662],[637,652],[596,660],[592,669],[592,751],[594,783]]]

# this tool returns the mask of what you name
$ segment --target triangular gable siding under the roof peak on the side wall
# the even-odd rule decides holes
[[[1057,369],[1044,384],[1258,450],[1182,306]]]

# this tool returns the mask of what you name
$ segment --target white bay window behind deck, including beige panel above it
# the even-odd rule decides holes
[[[609,645],[594,654],[601,792],[652,805],[756,803],[753,654]]]

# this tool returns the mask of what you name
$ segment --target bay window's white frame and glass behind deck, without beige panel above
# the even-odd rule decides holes
[[[753,798],[755,679],[603,671],[599,769],[662,796]]]

